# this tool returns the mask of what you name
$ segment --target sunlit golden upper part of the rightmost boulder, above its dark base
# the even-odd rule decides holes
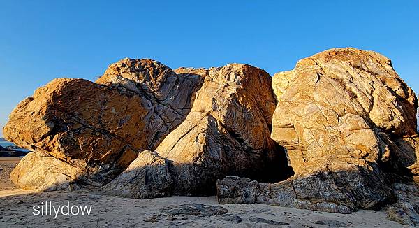
[[[415,150],[402,152],[399,144],[416,138],[418,101],[383,55],[327,50],[275,74],[272,85],[278,98],[272,138],[288,149],[295,173],[416,162]]]

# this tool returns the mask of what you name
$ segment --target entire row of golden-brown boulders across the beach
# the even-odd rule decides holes
[[[10,176],[24,189],[98,187],[136,199],[217,192],[221,204],[334,213],[399,201],[416,216],[401,192],[419,175],[417,108],[390,59],[355,48],[302,59],[273,79],[247,64],[172,71],[122,59],[96,83],[39,88],[4,135],[34,151]],[[416,224],[397,217],[397,205],[392,218]]]

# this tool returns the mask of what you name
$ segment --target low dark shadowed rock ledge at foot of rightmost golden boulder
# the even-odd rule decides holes
[[[219,204],[271,204],[292,208],[352,213],[359,208],[378,209],[394,200],[394,192],[377,173],[363,169],[318,172],[294,176],[279,183],[258,183],[227,176],[217,180]],[[315,192],[313,190],[316,190]]]

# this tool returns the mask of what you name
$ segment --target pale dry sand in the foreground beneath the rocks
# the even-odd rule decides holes
[[[168,197],[124,199],[89,192],[42,192],[18,190],[8,175],[18,159],[0,158],[0,227],[402,227],[382,211],[358,211],[351,215],[267,206],[263,204],[217,204],[216,197]],[[33,215],[35,205],[92,206],[91,215]],[[227,215],[166,215],[168,206],[218,205]],[[237,215],[242,219],[237,221]],[[268,223],[277,223],[270,225]],[[323,224],[323,225],[322,225]]]

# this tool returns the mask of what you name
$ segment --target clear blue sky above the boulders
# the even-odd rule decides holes
[[[418,10],[419,1],[0,0],[0,126],[53,78],[93,80],[124,57],[273,74],[352,46],[390,57],[418,93]]]

